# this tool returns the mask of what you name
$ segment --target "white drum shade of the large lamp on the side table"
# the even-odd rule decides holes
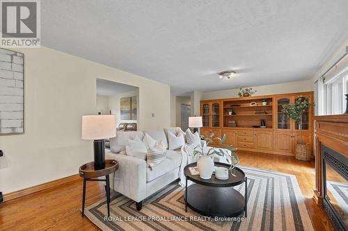
[[[108,139],[116,137],[115,116],[82,116],[82,139]]]

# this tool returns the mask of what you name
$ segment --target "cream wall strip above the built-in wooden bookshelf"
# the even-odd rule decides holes
[[[286,94],[292,92],[309,92],[314,90],[312,80],[303,80],[290,83],[279,83],[272,85],[262,85],[253,87],[257,90],[253,96],[262,96],[268,94]],[[223,99],[238,97],[239,89],[228,89],[223,91],[203,92],[202,100]]]

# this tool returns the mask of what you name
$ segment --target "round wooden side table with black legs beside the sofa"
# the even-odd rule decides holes
[[[108,208],[108,216],[110,216],[110,180],[109,174],[114,173],[118,169],[116,160],[105,160],[105,168],[100,170],[94,169],[94,162],[89,162],[79,167],[79,176],[84,178],[84,191],[82,193],[82,216],[84,216],[85,200],[86,200],[86,182],[87,181],[105,181],[106,186],[106,203]],[[104,179],[93,179],[105,176]]]

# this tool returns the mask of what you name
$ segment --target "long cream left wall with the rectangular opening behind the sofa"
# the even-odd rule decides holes
[[[24,134],[0,136],[5,194],[71,176],[93,160],[93,142],[81,139],[81,116],[97,113],[97,78],[139,87],[139,130],[170,124],[166,84],[46,47],[17,51],[24,53]]]

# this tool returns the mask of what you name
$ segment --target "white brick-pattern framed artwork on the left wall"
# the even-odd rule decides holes
[[[24,54],[0,48],[0,135],[24,132]]]

